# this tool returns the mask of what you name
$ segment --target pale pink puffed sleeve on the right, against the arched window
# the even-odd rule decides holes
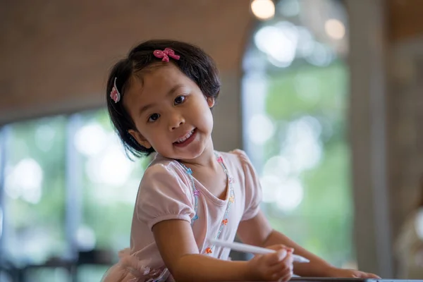
[[[241,218],[241,221],[245,221],[252,219],[259,212],[262,202],[262,185],[247,154],[240,149],[234,150],[233,153],[238,155],[245,175],[245,209]]]

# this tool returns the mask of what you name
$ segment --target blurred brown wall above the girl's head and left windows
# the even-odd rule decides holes
[[[0,125],[103,106],[107,71],[144,39],[198,44],[235,78],[254,20],[246,0],[5,2]]]

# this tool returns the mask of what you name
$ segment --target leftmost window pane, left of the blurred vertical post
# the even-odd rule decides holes
[[[66,118],[6,128],[4,252],[17,266],[66,255]]]

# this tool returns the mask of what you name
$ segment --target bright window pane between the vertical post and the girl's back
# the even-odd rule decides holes
[[[111,248],[117,253],[129,246],[135,198],[149,159],[128,159],[106,111],[81,115],[78,123],[74,144],[83,198],[79,247]],[[92,238],[91,245],[87,238]]]

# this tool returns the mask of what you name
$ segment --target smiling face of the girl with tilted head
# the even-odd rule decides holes
[[[173,63],[133,78],[123,105],[136,126],[129,130],[140,145],[171,159],[195,159],[212,144],[214,99]]]

